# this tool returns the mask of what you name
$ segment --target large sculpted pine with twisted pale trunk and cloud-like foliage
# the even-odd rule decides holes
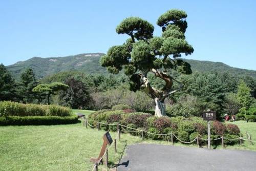
[[[162,14],[157,25],[162,27],[162,36],[153,36],[154,26],[139,17],[124,19],[116,28],[118,34],[127,34],[123,45],[113,46],[100,59],[100,65],[113,74],[122,69],[130,77],[130,89],[142,90],[156,103],[155,116],[164,116],[164,99],[179,91],[182,83],[167,74],[176,70],[182,74],[190,74],[189,63],[179,59],[181,54],[191,54],[194,49],[185,40],[187,14],[180,10],[169,10]],[[147,74],[152,72],[156,77],[165,81],[161,90],[152,87]],[[168,72],[171,73],[171,72]],[[177,81],[180,88],[173,90],[173,83]]]

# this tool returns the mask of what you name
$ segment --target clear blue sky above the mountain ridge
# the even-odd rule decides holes
[[[127,38],[118,35],[122,19],[139,16],[155,26],[169,9],[188,14],[189,59],[220,61],[256,70],[256,1],[0,1],[0,63],[34,56],[106,53]]]

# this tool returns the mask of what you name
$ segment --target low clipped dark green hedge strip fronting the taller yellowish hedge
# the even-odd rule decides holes
[[[54,125],[79,122],[77,115],[72,116],[8,116],[0,117],[0,125]]]

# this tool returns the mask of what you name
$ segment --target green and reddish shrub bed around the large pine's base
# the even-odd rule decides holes
[[[146,132],[155,134],[170,134],[173,132],[182,141],[189,141],[195,139],[196,136],[206,139],[207,138],[207,122],[200,117],[185,118],[179,117],[160,117],[157,118],[151,114],[142,112],[125,113],[122,110],[118,111],[97,111],[88,116],[90,124],[95,125],[98,121],[103,123],[120,123],[125,126],[132,127],[133,129],[144,130]],[[116,125],[100,124],[103,130],[116,131]],[[120,129],[131,131],[126,127]],[[132,132],[132,135],[139,135]],[[239,127],[234,124],[223,124],[222,122],[215,121],[211,124],[211,138],[216,139],[221,136],[239,137],[241,136]],[[145,138],[154,140],[169,140],[170,136],[159,136],[154,134],[144,133]],[[174,139],[174,141],[178,141]],[[195,142],[196,143],[196,142]],[[200,144],[206,144],[207,141],[201,141]],[[212,141],[214,144],[220,144],[221,141]],[[237,141],[225,141],[226,144],[237,143]]]

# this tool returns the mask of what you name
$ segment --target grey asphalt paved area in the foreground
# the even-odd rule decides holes
[[[256,152],[170,145],[129,145],[117,167],[123,170],[256,170]]]

